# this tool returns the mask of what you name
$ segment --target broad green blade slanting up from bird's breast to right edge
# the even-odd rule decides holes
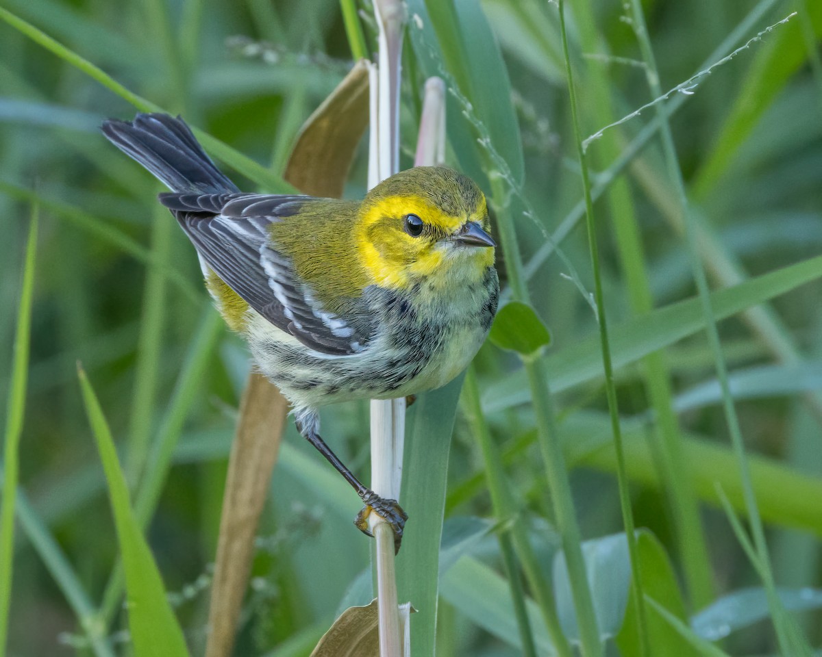
[[[764,273],[739,285],[713,292],[713,315],[716,319],[725,319],[820,277],[822,256]],[[704,325],[702,304],[696,298],[679,301],[648,315],[630,319],[611,331],[614,368],[669,347],[700,331]],[[590,336],[549,354],[546,356],[546,369],[551,372],[551,388],[555,393],[602,376],[598,336]],[[501,411],[527,402],[529,398],[528,381],[524,370],[520,368],[487,387],[483,395],[483,407],[487,412]]]

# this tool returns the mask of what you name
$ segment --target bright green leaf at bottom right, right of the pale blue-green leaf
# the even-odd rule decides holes
[[[646,529],[637,531],[637,551],[640,558],[640,575],[642,590],[645,595],[658,600],[673,616],[682,623],[687,622],[685,603],[674,572],[671,559],[668,558],[663,544]],[[689,641],[686,641],[670,623],[655,611],[646,607],[649,651],[651,655],[670,653],[677,657],[699,655]],[[639,635],[636,630],[636,607],[634,591],[630,591],[630,600],[626,609],[625,623],[617,635],[617,646],[622,655],[639,655]]]

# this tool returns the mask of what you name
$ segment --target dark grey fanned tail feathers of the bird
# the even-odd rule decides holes
[[[103,134],[171,191],[239,191],[211,162],[180,117],[137,114],[133,122],[109,119],[103,122]]]

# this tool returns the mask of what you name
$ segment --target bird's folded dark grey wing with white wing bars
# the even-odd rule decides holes
[[[324,310],[291,260],[273,249],[269,227],[315,200],[262,194],[161,194],[210,268],[271,324],[333,356],[360,351],[362,324]]]

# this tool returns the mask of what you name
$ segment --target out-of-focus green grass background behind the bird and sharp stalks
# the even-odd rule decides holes
[[[425,3],[409,3],[403,167],[411,164],[424,77],[445,75],[452,89],[459,87],[446,94],[449,163],[493,195],[497,221],[515,226],[533,307],[552,335],[548,380],[582,535],[612,535],[623,531],[623,521],[601,356],[592,347],[597,322],[586,295],[593,291],[593,276],[579,213],[582,185],[556,3],[455,4],[461,12],[456,30],[468,52],[485,52],[488,62],[474,58],[473,66],[455,67],[448,48],[436,43],[435,34],[440,41],[444,34],[436,11],[429,9],[429,17]],[[820,3],[642,5],[663,90],[798,12],[671,97],[677,104],[670,126],[678,171],[711,285],[753,279],[746,289],[765,298],[765,283],[756,277],[809,260],[822,246]],[[7,0],[4,7],[128,90],[182,113],[277,176],[302,122],[352,64],[337,0]],[[358,7],[372,49],[370,3]],[[588,136],[653,96],[630,7],[617,0],[575,0],[566,11],[580,122]],[[471,20],[463,21],[466,16]],[[746,17],[750,21],[737,30]],[[495,58],[495,41],[504,69]],[[481,75],[486,64],[487,75]],[[468,111],[466,99],[472,101]],[[44,565],[48,558],[35,549],[36,531],[44,532],[40,546],[62,552],[60,563],[93,609],[102,604],[118,555],[77,361],[99,395],[135,489],[155,469],[158,446],[174,447],[147,535],[193,654],[201,653],[205,638],[209,564],[249,362],[242,342],[210,307],[191,245],[155,202],[159,183],[99,134],[105,117],[130,118],[134,112],[65,57],[35,44],[7,20],[0,22],[3,399],[35,201],[40,214],[8,655],[93,654],[76,604],[70,604],[74,589]],[[696,329],[670,338],[677,324],[686,324],[685,310],[673,311],[666,320],[670,326],[657,318],[632,319],[649,310],[643,304],[670,306],[696,293],[681,206],[660,142],[653,136],[644,149],[630,149],[653,117],[654,108],[645,109],[588,150],[594,186],[610,185],[594,211],[607,319],[617,327],[616,389],[635,522],[653,532],[672,560],[685,600],[682,618],[694,621],[695,613],[718,601],[717,615],[709,618],[718,636],[708,636],[708,630],[702,636],[729,634],[721,647],[731,655],[773,655],[778,647],[762,582],[718,506],[717,481],[733,506],[743,508],[708,339]],[[478,138],[489,141],[478,144]],[[613,163],[621,157],[626,166],[617,170]],[[363,143],[346,195],[363,195],[366,159]],[[605,175],[611,172],[624,174],[616,186]],[[256,189],[258,181],[231,175],[242,189]],[[547,255],[551,235],[561,240],[563,258]],[[638,244],[646,267],[640,267]],[[503,278],[510,267],[501,264]],[[719,333],[746,452],[754,462],[774,578],[785,599],[803,609],[794,618],[806,640],[820,646],[822,288],[791,281],[783,288],[787,294],[760,315],[734,311],[719,324]],[[741,292],[728,298],[741,299]],[[663,356],[638,360],[654,339],[663,340],[657,343],[666,347]],[[528,518],[538,556],[550,571],[556,536],[546,524],[552,509],[522,363],[488,343],[475,371],[483,421],[505,453],[516,510]],[[670,390],[660,388],[660,381]],[[450,452],[446,535],[456,517],[499,520],[483,479],[487,464],[475,439],[477,423],[466,417],[466,403],[457,412]],[[323,411],[326,439],[355,472],[367,472],[367,418],[367,405]],[[670,430],[671,423],[678,430]],[[660,438],[666,432],[678,434],[684,448],[672,451]],[[367,568],[369,545],[350,526],[358,500],[318,485],[317,477],[327,473],[289,426],[261,523],[237,655],[307,655]],[[684,501],[676,488],[683,479]],[[691,502],[699,509],[704,542],[681,535],[689,526],[681,517]],[[496,533],[478,537],[471,550],[480,563],[502,572]],[[700,552],[708,555],[704,563]],[[483,615],[475,597],[462,595],[453,582],[441,586],[439,655],[522,654],[516,632],[503,631],[515,627],[510,608]],[[617,609],[625,605],[625,587]],[[734,606],[738,600],[727,596],[746,587],[755,587],[750,600]],[[125,613],[118,600],[109,604],[116,613],[101,632],[117,654],[128,654]],[[634,654],[624,646],[622,654]],[[617,650],[609,641],[607,654]],[[685,647],[671,650],[653,654],[690,654]]]

